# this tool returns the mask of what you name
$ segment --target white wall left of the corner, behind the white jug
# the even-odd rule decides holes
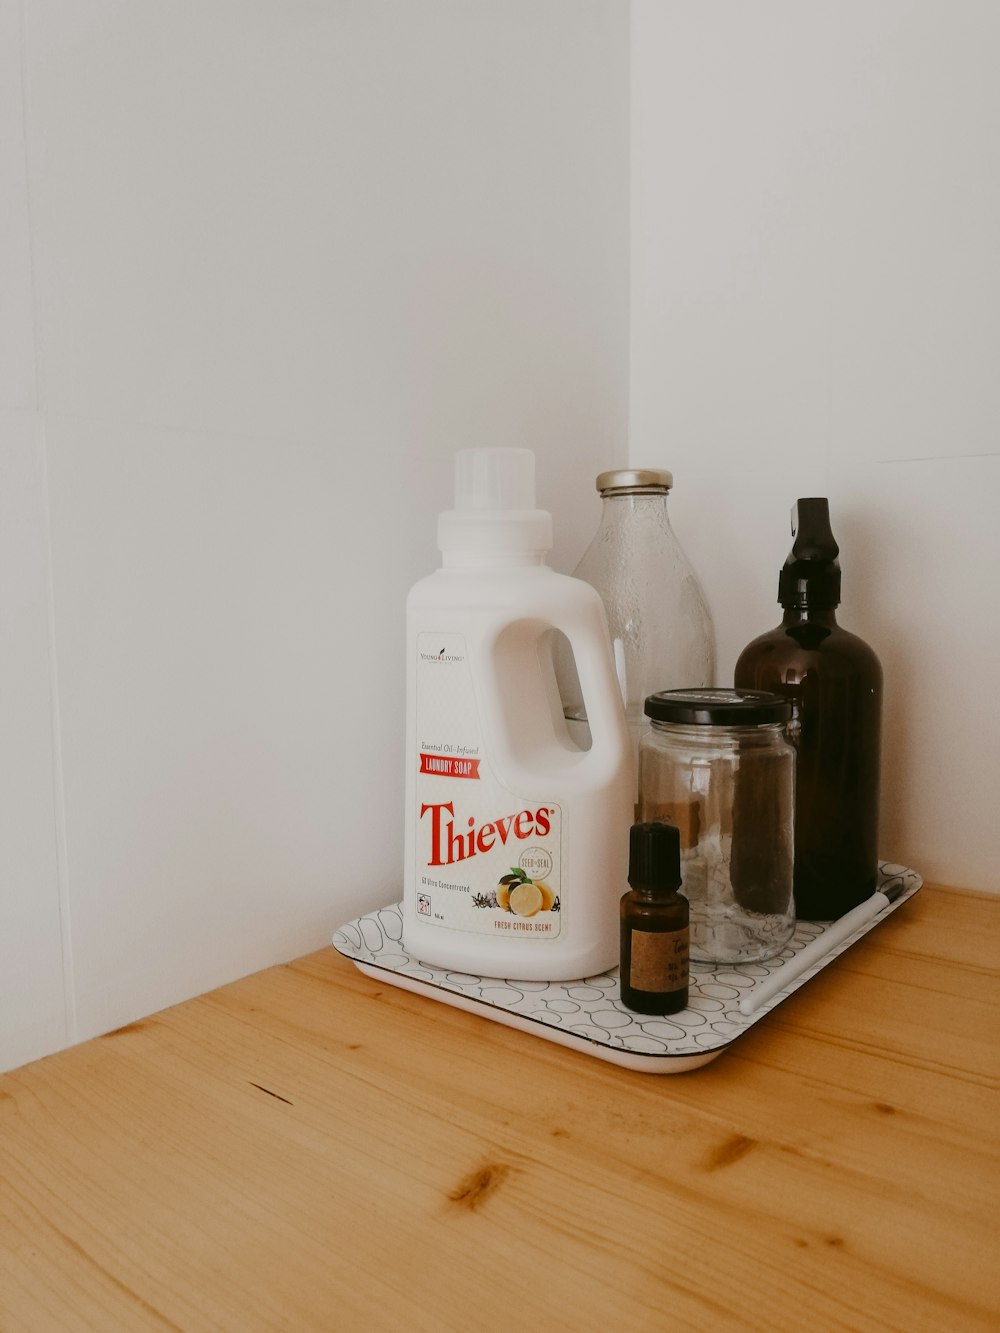
[[[451,457],[625,459],[628,9],[0,0],[0,1068],[400,892]]]

